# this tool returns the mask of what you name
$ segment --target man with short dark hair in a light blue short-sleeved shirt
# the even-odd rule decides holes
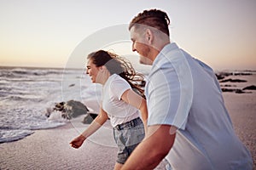
[[[145,94],[148,133],[122,169],[252,169],[224,106],[212,69],[170,42],[167,14],[138,14],[129,26],[132,50],[152,65]]]

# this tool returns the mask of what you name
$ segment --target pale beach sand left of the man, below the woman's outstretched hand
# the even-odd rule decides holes
[[[112,130],[103,128],[76,150],[69,142],[79,135],[78,131],[81,127],[68,123],[0,144],[0,169],[113,169],[117,148]],[[156,169],[164,167],[161,163]]]

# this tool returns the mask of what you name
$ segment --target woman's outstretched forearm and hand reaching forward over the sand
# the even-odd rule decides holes
[[[100,127],[102,127],[102,124],[104,124],[104,122],[107,120],[108,115],[101,108],[99,115],[96,116],[95,120],[90,123],[90,126],[87,127],[86,130],[84,130],[84,132],[79,135],[79,137],[73,139],[73,141],[70,142],[71,146],[78,149],[84,143],[84,140],[87,139],[91,134],[95,133],[96,130],[98,130]]]

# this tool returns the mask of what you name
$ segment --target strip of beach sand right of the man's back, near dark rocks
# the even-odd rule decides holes
[[[247,80],[247,82],[229,82],[233,88],[246,88],[256,85],[256,75],[231,76],[229,78]],[[236,135],[246,145],[253,157],[253,169],[256,169],[256,91],[244,90],[247,94],[223,93],[224,102],[230,113]]]

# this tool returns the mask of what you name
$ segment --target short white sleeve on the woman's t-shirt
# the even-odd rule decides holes
[[[110,85],[111,91],[115,97],[121,99],[122,95],[125,93],[126,90],[131,89],[131,86],[125,79],[117,79],[114,80]]]

